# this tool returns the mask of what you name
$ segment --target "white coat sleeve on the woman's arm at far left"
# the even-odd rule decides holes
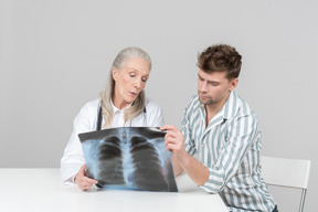
[[[78,134],[94,130],[95,125],[92,123],[92,116],[94,117],[86,105],[73,121],[73,131],[61,159],[61,180],[64,184],[74,183],[76,173],[85,163]]]

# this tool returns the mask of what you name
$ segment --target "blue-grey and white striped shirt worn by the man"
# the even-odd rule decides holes
[[[246,102],[232,92],[205,127],[205,109],[193,96],[186,108],[182,132],[187,151],[209,171],[201,186],[219,193],[230,211],[273,211],[275,204],[261,177],[257,119]]]

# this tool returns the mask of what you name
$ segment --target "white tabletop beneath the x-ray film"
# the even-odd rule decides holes
[[[0,211],[227,211],[220,195],[205,193],[188,176],[178,177],[177,183],[179,192],[82,191],[77,186],[63,186],[59,169],[0,169]]]

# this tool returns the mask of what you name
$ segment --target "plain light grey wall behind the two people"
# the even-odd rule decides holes
[[[197,54],[222,42],[243,55],[236,92],[257,114],[263,155],[312,161],[305,211],[316,211],[317,11],[314,0],[0,0],[0,167],[60,167],[75,115],[130,45],[151,55],[147,95],[180,127]],[[297,191],[272,192],[297,211]]]

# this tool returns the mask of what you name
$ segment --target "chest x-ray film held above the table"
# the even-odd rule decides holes
[[[177,192],[165,135],[148,127],[80,134],[87,177],[96,179],[97,187]]]

